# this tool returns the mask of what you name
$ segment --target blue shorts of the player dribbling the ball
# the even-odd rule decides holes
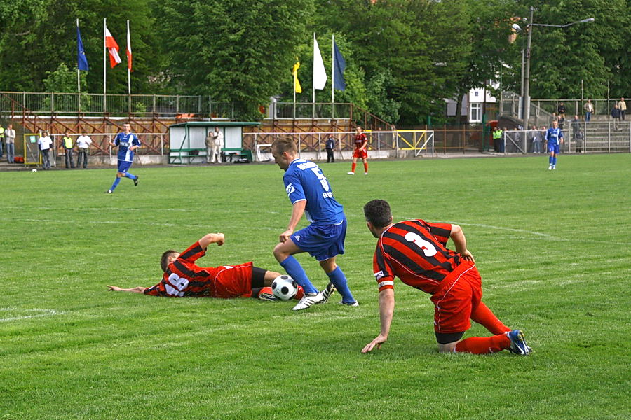
[[[308,225],[290,236],[294,244],[318,261],[344,253],[346,218],[339,225]]]

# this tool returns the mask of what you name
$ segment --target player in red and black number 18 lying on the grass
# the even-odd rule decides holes
[[[273,279],[280,276],[278,272],[254,267],[252,262],[239,265],[219,267],[199,267],[195,264],[198,258],[206,255],[210,244],[222,246],[223,233],[209,233],[196,241],[183,253],[169,250],[162,254],[160,265],[164,272],[162,281],[155,286],[120,288],[107,286],[116,292],[144,293],[151,296],[165,297],[257,297],[260,300],[276,300],[270,286]],[[302,289],[296,295],[299,299]]]

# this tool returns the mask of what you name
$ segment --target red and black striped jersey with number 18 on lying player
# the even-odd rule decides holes
[[[232,267],[198,267],[195,261],[206,255],[199,242],[169,264],[162,281],[144,290],[145,295],[168,297],[216,297],[215,279]],[[250,263],[251,264],[251,263]]]

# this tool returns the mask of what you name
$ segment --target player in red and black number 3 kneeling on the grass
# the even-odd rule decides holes
[[[362,353],[381,348],[388,339],[394,311],[394,278],[432,295],[434,331],[441,352],[475,354],[510,350],[522,356],[531,352],[520,330],[510,330],[482,303],[482,279],[459,225],[422,220],[392,223],[390,204],[372,200],[364,206],[368,229],[379,239],[374,251],[374,276],[379,286],[380,334]],[[446,248],[449,238],[456,251]],[[491,337],[462,339],[480,323]]]

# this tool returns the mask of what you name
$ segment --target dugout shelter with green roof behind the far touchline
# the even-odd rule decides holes
[[[222,159],[233,161],[235,158],[252,161],[252,151],[243,149],[243,127],[260,125],[247,121],[189,121],[169,126],[169,163],[191,164],[206,161],[205,139],[209,132],[219,127],[224,133]]]

